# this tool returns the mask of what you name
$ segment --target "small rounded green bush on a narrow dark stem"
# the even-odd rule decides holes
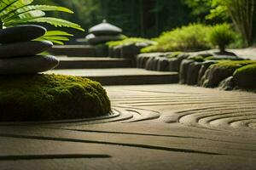
[[[230,25],[221,24],[212,26],[212,30],[208,34],[209,42],[212,45],[218,45],[220,53],[225,53],[225,48],[235,40],[236,32],[232,30]]]

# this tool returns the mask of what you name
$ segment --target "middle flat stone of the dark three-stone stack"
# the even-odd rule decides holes
[[[49,41],[41,42],[15,42],[0,45],[0,58],[31,56],[40,54],[49,48],[53,43]]]

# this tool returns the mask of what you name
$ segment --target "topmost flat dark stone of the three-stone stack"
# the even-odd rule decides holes
[[[44,36],[46,29],[42,26],[14,26],[0,30],[0,43],[28,42]]]

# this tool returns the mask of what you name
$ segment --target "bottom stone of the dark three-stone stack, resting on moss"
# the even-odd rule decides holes
[[[49,71],[57,65],[59,60],[51,55],[0,59],[0,74],[33,74]]]

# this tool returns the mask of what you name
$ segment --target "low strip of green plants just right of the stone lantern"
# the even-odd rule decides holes
[[[120,41],[112,41],[112,42],[107,42],[106,44],[108,45],[109,48],[121,46],[121,45],[126,45],[126,44],[134,44],[137,42],[145,42],[148,44],[154,44],[154,41],[148,40],[146,38],[142,37],[126,37],[123,40]]]

